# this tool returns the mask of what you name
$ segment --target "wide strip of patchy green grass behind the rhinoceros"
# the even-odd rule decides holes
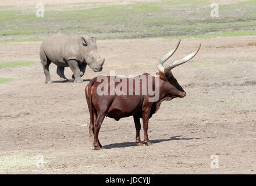
[[[74,3],[45,5],[44,17],[35,7],[1,7],[0,43],[42,41],[58,31],[99,39],[211,38],[255,35],[256,0],[219,5],[211,17],[211,0],[166,0],[109,5]]]

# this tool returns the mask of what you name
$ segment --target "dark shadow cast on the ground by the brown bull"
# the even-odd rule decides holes
[[[173,137],[170,137],[168,139],[161,139],[161,140],[150,140],[151,143],[157,144],[163,141],[172,141],[172,140],[195,140],[195,139],[204,139],[204,138],[180,138],[182,135],[176,135]],[[207,137],[209,138],[209,137]],[[104,145],[104,149],[112,149],[112,148],[124,148],[124,147],[129,147],[129,146],[135,146],[135,141],[134,142],[122,142],[122,143],[115,143],[115,144],[109,144],[109,145]]]

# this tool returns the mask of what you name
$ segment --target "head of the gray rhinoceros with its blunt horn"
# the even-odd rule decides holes
[[[83,55],[86,63],[93,71],[101,71],[105,58],[98,55],[95,37],[83,36]]]

